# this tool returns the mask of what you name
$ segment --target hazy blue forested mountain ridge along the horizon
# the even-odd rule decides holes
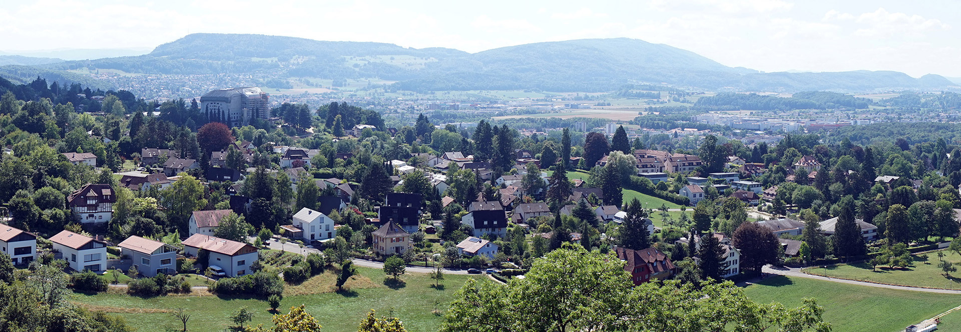
[[[290,36],[193,34],[136,57],[43,64],[152,74],[256,73],[267,78],[378,78],[415,91],[541,89],[599,92],[625,83],[667,83],[725,91],[937,89],[957,85],[939,75],[915,79],[892,71],[760,73],[639,39],[538,42],[475,54],[380,42]]]

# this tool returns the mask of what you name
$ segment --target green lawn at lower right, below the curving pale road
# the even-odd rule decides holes
[[[749,286],[744,292],[760,303],[801,305],[815,297],[825,307],[824,319],[834,332],[896,332],[961,304],[961,296],[889,290],[807,278],[776,276]],[[961,315],[952,320],[961,320]],[[959,331],[954,329],[953,331]]]

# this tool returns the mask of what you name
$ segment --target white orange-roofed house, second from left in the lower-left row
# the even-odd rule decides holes
[[[107,244],[69,230],[62,230],[50,238],[55,252],[62,254],[70,269],[75,271],[107,270]]]

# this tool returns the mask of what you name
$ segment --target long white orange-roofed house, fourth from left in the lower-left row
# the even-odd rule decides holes
[[[204,234],[190,235],[184,244],[184,253],[197,257],[200,249],[209,252],[208,266],[215,266],[224,271],[227,276],[253,273],[250,265],[258,260],[257,248],[242,242],[221,239]]]

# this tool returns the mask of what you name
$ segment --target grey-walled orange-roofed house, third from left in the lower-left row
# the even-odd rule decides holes
[[[131,236],[123,240],[120,255],[130,257],[136,271],[146,276],[177,272],[177,249],[160,241]]]

